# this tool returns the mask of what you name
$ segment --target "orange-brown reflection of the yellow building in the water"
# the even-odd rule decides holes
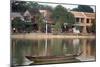
[[[91,57],[95,56],[95,40],[82,40],[82,56]]]

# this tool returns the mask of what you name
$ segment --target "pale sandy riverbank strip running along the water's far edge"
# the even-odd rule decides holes
[[[95,38],[95,35],[77,35],[77,34],[66,34],[66,35],[54,35],[45,33],[25,33],[25,34],[13,34],[11,38],[15,39],[46,39],[46,38]]]

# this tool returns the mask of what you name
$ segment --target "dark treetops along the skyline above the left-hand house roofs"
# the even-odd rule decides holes
[[[11,4],[12,12],[25,12],[29,9],[47,9],[52,10],[52,7],[48,5],[41,5],[37,2],[25,2],[25,1],[15,1]]]

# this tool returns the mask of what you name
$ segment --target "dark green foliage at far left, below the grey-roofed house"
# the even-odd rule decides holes
[[[32,31],[33,24],[32,22],[25,22],[22,21],[19,17],[16,17],[14,20],[12,20],[12,28],[15,28],[18,32],[29,32]]]

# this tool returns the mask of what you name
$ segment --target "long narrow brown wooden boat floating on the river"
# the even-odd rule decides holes
[[[69,59],[75,59],[76,57],[80,56],[82,54],[75,54],[75,55],[66,55],[66,56],[39,56],[39,57],[32,57],[32,56],[25,56],[30,61],[34,62],[45,62],[45,61],[60,61],[60,60],[69,60]]]

